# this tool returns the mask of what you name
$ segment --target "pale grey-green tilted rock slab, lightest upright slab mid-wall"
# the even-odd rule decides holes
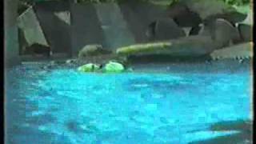
[[[134,35],[130,32],[118,4],[102,3],[94,7],[101,23],[106,48],[114,50],[119,46],[134,44]]]

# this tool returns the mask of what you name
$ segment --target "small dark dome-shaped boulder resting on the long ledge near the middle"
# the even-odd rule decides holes
[[[186,34],[174,20],[170,18],[158,19],[152,22],[147,30],[147,36],[150,40],[167,40],[185,37]]]

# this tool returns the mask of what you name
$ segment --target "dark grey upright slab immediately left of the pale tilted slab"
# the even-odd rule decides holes
[[[71,48],[72,56],[78,56],[83,46],[104,42],[103,31],[93,4],[71,4]]]

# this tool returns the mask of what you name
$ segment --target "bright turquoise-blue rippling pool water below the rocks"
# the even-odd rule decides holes
[[[252,119],[251,77],[249,67],[82,74],[67,67],[18,66],[6,75],[6,139],[160,144],[238,133],[213,132],[209,126]]]

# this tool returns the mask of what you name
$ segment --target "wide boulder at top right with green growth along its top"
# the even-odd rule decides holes
[[[239,13],[234,7],[222,1],[180,0],[174,2],[167,13],[170,18],[177,21],[179,26],[196,26],[197,23],[212,21],[216,18],[225,18],[235,24],[246,18],[246,14]]]

